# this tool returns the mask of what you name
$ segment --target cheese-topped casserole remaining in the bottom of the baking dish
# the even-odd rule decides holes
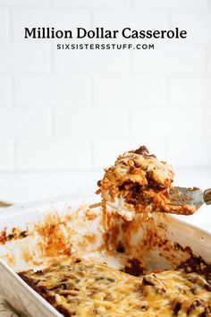
[[[46,289],[55,308],[70,316],[211,315],[209,285],[196,273],[166,270],[136,278],[104,263],[80,261],[21,274],[32,287]]]

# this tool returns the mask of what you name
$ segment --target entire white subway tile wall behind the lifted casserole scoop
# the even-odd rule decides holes
[[[57,50],[89,40],[24,39],[24,27],[179,27],[188,38],[136,40],[154,50]],[[210,168],[210,122],[210,0],[0,0],[2,180],[84,173],[88,182],[141,144],[175,168]]]

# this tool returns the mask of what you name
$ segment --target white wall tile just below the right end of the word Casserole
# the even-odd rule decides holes
[[[188,45],[159,43],[155,50],[134,51],[132,56],[133,73],[189,75],[204,74],[206,65],[206,47],[203,45]]]

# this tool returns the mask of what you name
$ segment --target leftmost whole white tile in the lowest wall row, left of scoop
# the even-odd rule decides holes
[[[89,168],[89,142],[70,141],[18,141],[17,167],[20,170],[59,170]]]

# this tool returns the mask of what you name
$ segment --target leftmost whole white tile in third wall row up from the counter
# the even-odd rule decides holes
[[[16,76],[14,96],[17,107],[89,107],[90,79],[60,75]]]

